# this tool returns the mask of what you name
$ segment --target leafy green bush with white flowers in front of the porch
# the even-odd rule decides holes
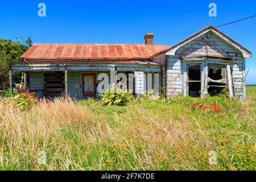
[[[111,85],[106,92],[101,95],[101,105],[119,105],[124,106],[129,101],[133,101],[133,94],[127,92],[125,88],[119,88],[119,86]]]

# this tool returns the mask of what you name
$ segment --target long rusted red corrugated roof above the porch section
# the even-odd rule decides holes
[[[146,44],[34,44],[22,55],[34,60],[150,59],[171,46]]]

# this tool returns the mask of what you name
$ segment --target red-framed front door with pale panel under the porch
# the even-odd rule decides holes
[[[96,76],[92,73],[82,74],[82,98],[96,98]]]

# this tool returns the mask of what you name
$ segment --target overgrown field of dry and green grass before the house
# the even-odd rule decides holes
[[[256,170],[255,91],[247,87],[245,105],[224,96],[56,100],[20,111],[2,99],[0,169]]]

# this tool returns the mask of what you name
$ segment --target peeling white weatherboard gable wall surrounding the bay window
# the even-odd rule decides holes
[[[205,35],[188,42],[176,51],[175,56],[167,58],[167,97],[176,96],[183,92],[184,85],[181,84],[183,61],[180,57],[192,56],[215,56],[233,57],[234,66],[232,67],[232,77],[234,82],[234,93],[240,101],[245,99],[245,59],[242,53],[230,46],[224,40],[212,34],[208,40]]]

